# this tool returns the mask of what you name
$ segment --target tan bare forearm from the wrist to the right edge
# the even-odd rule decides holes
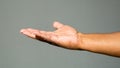
[[[120,33],[80,34],[81,49],[120,57]]]

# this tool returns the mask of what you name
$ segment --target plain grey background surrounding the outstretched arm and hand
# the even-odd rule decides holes
[[[0,68],[120,68],[116,57],[36,41],[21,28],[54,30],[60,21],[82,33],[120,31],[120,0],[0,0]]]

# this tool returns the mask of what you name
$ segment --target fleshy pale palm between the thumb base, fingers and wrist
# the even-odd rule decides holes
[[[68,49],[76,49],[77,47],[77,31],[70,27],[64,25],[61,28],[58,28],[54,33],[53,42],[58,45],[68,48]]]

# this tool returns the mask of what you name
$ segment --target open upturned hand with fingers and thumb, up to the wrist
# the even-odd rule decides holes
[[[54,22],[53,27],[56,28],[53,32],[27,28],[22,29],[21,33],[33,39],[52,43],[60,47],[80,49],[78,32],[74,28],[59,22]]]

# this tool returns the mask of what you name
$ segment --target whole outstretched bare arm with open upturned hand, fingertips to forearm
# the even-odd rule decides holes
[[[54,22],[55,31],[43,31],[32,28],[22,29],[20,32],[30,38],[54,45],[73,49],[87,50],[120,57],[120,32],[109,34],[83,34],[71,26]]]

